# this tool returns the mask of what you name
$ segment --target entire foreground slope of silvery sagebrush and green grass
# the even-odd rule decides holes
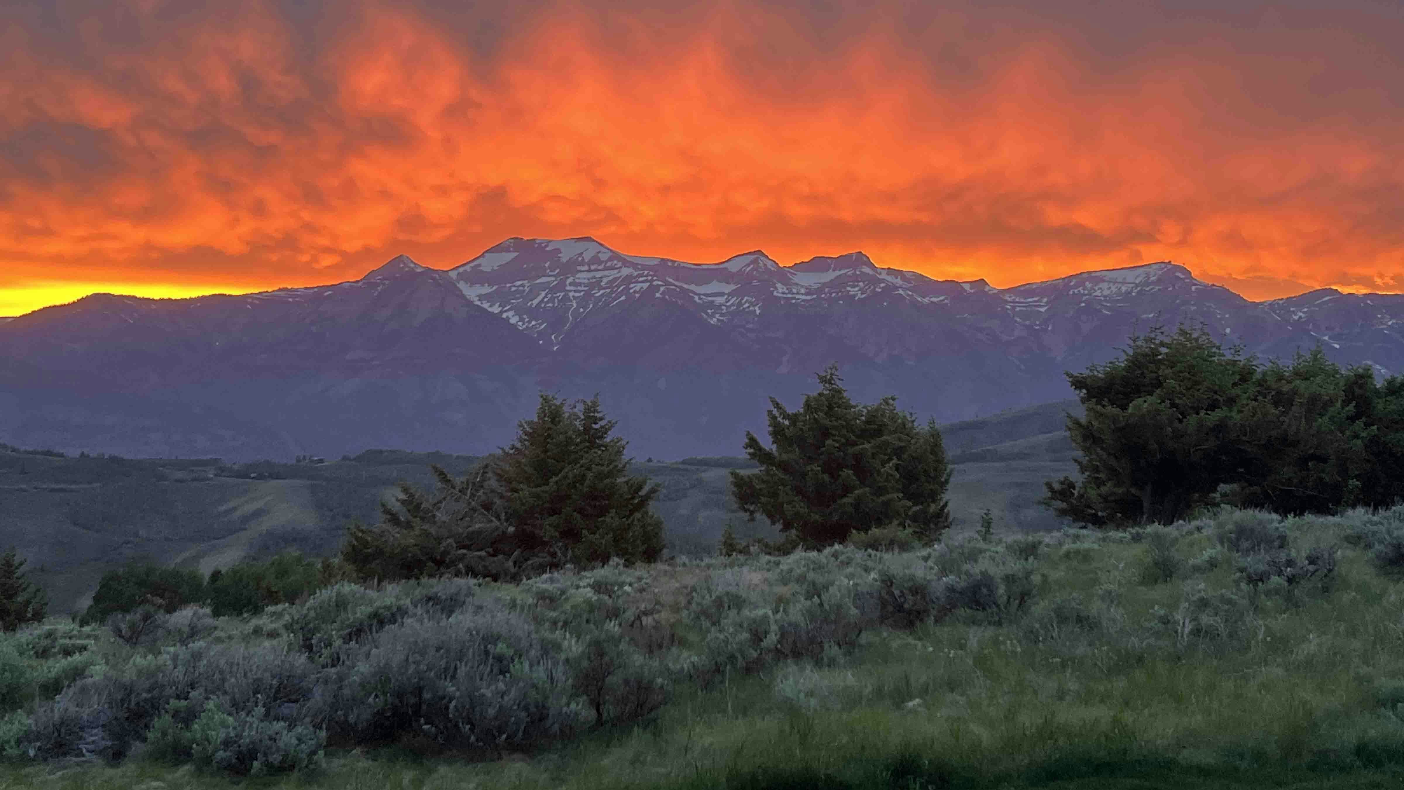
[[[1223,510],[51,620],[0,786],[1397,786],[1401,569],[1404,509]]]

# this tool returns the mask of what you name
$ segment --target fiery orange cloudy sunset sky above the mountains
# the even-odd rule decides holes
[[[1401,41],[1397,0],[29,3],[0,315],[580,235],[1404,291]]]

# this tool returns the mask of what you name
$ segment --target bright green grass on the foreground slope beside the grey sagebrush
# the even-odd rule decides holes
[[[1355,516],[1353,519],[1359,519]],[[1351,519],[1289,523],[1293,547],[1341,544]],[[1181,526],[1181,561],[1212,548]],[[1144,543],[1049,536],[1040,609],[873,631],[837,666],[782,665],[682,692],[646,725],[535,756],[469,763],[337,753],[316,787],[1398,787],[1404,586],[1344,548],[1335,583],[1252,597],[1233,564],[1148,583]],[[731,561],[747,562],[747,561]],[[720,569],[724,562],[705,568]],[[696,568],[654,566],[657,585]],[[757,569],[758,576],[764,571]],[[1228,590],[1241,627],[1195,630],[1182,604]],[[1233,590],[1238,592],[1233,592]],[[1049,630],[1053,604],[1095,626]],[[1163,614],[1168,613],[1168,614]],[[1163,624],[1147,626],[1161,621]],[[1234,620],[1238,621],[1238,620]],[[159,782],[159,784],[156,784]],[[152,784],[143,784],[152,783]],[[295,779],[251,783],[305,786]],[[232,787],[187,769],[0,768],[0,787]],[[246,784],[247,786],[247,784]]]

